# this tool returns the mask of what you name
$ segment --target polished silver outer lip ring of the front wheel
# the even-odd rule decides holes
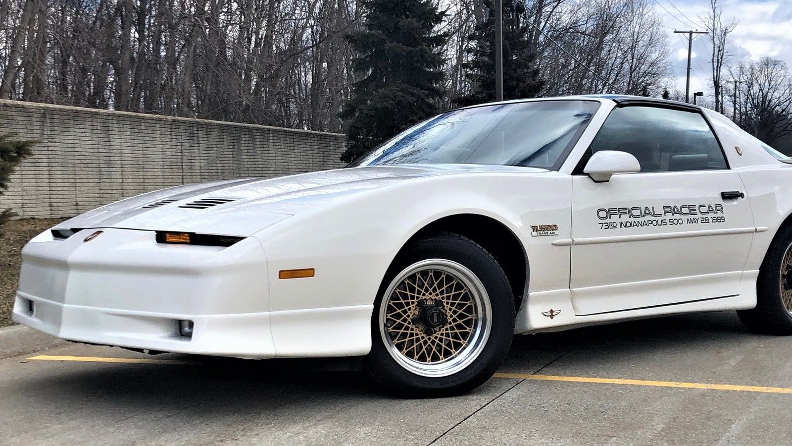
[[[468,287],[468,292],[473,296],[474,302],[477,303],[477,310],[480,313],[474,332],[474,338],[470,341],[468,346],[464,348],[458,356],[454,356],[447,361],[436,364],[420,363],[402,355],[402,352],[398,351],[398,348],[396,348],[392,340],[390,340],[390,336],[388,336],[385,330],[385,310],[390,295],[394,293],[396,286],[398,286],[402,280],[406,279],[406,277],[425,269],[445,271],[463,282],[463,284]],[[415,375],[428,378],[441,378],[463,371],[470,363],[477,359],[478,356],[481,356],[492,331],[492,305],[489,301],[489,294],[487,293],[484,283],[482,283],[481,279],[478,279],[478,276],[475,275],[473,271],[470,271],[470,268],[464,266],[462,263],[447,259],[421,260],[406,267],[390,282],[385,294],[383,294],[382,302],[379,304],[377,325],[379,326],[379,335],[383,340],[383,344],[385,344],[386,351],[402,368]]]

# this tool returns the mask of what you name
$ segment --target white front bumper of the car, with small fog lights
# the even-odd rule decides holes
[[[13,320],[67,340],[166,352],[276,355],[264,250],[249,237],[228,248],[163,245],[154,232],[49,232],[22,252]],[[179,321],[193,321],[192,337]]]

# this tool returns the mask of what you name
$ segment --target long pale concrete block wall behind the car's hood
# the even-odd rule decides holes
[[[40,218],[185,183],[343,167],[346,146],[337,133],[0,100],[8,132],[40,143],[0,209]]]

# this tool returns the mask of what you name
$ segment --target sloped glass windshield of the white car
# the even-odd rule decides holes
[[[467,163],[558,169],[599,107],[565,100],[453,110],[406,129],[350,167]]]

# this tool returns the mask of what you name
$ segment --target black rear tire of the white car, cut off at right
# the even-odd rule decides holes
[[[737,311],[753,332],[792,335],[792,226],[770,244],[756,279],[756,308]]]

